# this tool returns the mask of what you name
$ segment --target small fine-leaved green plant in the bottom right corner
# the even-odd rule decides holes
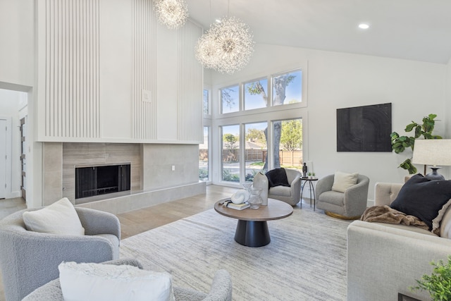
[[[451,301],[451,255],[448,255],[447,264],[440,260],[431,265],[434,266],[432,274],[416,280],[417,285],[410,290],[427,290],[433,301]]]

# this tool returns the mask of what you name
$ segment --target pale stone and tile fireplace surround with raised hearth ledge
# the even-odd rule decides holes
[[[197,145],[44,142],[43,152],[44,206],[68,197],[79,207],[120,214],[205,192]],[[75,199],[75,166],[123,162],[131,165],[130,191]]]

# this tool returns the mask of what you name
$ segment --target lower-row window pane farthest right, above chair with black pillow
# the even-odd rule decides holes
[[[274,168],[302,168],[302,119],[273,121]]]

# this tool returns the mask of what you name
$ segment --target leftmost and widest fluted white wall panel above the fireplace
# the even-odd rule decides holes
[[[99,0],[45,6],[44,135],[99,137]]]

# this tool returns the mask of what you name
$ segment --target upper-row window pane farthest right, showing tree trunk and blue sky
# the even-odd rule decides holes
[[[273,75],[271,83],[273,106],[302,102],[302,70]]]

